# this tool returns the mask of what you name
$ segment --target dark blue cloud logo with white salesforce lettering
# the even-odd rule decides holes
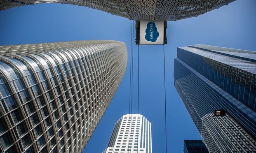
[[[146,28],[146,40],[155,42],[157,40],[157,37],[159,37],[159,32],[157,31],[155,23],[149,22]]]

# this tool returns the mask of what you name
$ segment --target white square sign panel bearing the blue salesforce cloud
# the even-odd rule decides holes
[[[165,44],[164,22],[140,21],[140,44]]]

